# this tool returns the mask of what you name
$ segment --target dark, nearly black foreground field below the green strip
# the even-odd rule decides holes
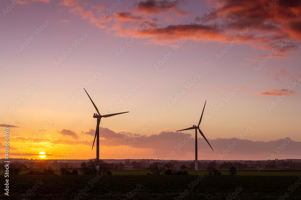
[[[0,198],[77,199],[76,197],[81,196],[81,191],[84,194],[79,199],[175,200],[181,199],[180,193],[184,196],[186,190],[183,199],[280,199],[279,196],[284,196],[285,193],[289,195],[285,199],[301,199],[298,176],[104,175],[100,178],[96,177],[10,175],[9,197],[4,195],[2,189]],[[196,181],[198,179],[200,181]],[[37,183],[40,180],[43,182],[41,186]],[[3,188],[3,178],[0,183]],[[289,187],[294,184],[295,189],[290,189]],[[37,189],[36,185],[39,186]],[[36,191],[31,194],[30,189]]]

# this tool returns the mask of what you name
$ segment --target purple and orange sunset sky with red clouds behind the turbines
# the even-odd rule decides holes
[[[1,1],[9,157],[300,159],[301,1]]]

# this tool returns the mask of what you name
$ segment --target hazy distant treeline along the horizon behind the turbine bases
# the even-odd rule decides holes
[[[2,161],[1,161],[2,160]],[[4,159],[0,160],[0,170],[4,170]],[[88,160],[28,160],[28,159],[10,159],[10,169],[16,172],[20,170],[33,170],[33,169],[54,169],[66,170],[81,169],[81,163]],[[173,164],[173,169],[194,169],[194,160],[154,160],[154,159],[126,159],[126,160],[103,160],[108,170],[123,170],[123,169],[149,169],[150,165],[154,162],[169,162]],[[108,162],[109,161],[109,162]],[[301,169],[301,160],[286,159],[286,160],[216,160],[217,169],[230,169],[234,166],[236,169],[252,169],[261,167],[265,163],[265,168],[290,168]],[[210,160],[199,160],[198,169],[207,169]],[[185,166],[185,167],[184,167]]]

